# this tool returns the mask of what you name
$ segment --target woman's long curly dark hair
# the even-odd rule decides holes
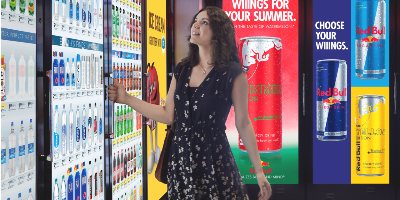
[[[226,13],[215,6],[207,6],[202,8],[197,14],[194,15],[190,28],[194,24],[196,16],[203,11],[207,11],[208,20],[210,21],[210,28],[213,32],[211,38],[211,56],[214,68],[217,70],[227,70],[229,62],[234,61],[240,63],[238,48],[236,47],[236,40],[234,34],[233,23],[226,15]],[[188,41],[190,36],[188,36]],[[196,66],[199,63],[199,48],[197,44],[190,42],[188,56],[182,59],[182,66]]]

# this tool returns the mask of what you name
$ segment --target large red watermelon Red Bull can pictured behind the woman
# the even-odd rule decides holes
[[[282,148],[282,43],[280,38],[247,37],[239,40],[240,59],[248,68],[248,111],[258,151]],[[239,149],[247,152],[239,136]]]

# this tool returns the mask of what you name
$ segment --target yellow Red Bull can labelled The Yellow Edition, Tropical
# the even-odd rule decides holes
[[[382,176],[386,167],[385,96],[356,96],[356,163],[359,176]]]

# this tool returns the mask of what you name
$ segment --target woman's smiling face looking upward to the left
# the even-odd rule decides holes
[[[208,20],[207,11],[200,12],[190,29],[190,42],[197,45],[210,45],[212,38],[212,30],[210,21]]]

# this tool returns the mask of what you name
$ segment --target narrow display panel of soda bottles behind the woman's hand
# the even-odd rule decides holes
[[[129,95],[142,99],[142,1],[112,0],[112,72]],[[112,198],[142,199],[142,115],[114,104],[110,159]]]

